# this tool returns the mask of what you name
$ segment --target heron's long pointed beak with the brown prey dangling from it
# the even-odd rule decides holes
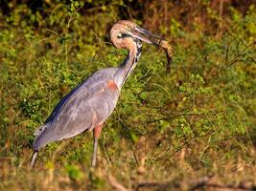
[[[167,57],[167,66],[166,66],[166,73],[170,74],[171,70],[171,63],[173,61],[172,56],[173,56],[173,51],[172,47],[169,45],[169,42],[165,40],[164,38],[157,36],[153,34],[152,32],[148,32],[147,30],[144,30],[138,26],[136,26],[132,31],[132,36],[142,40],[148,44],[152,44],[156,47],[162,48]]]

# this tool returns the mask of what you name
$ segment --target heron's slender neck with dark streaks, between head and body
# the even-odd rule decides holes
[[[115,79],[118,87],[122,87],[127,81],[129,74],[135,69],[138,59],[141,54],[142,44],[141,42],[136,42],[136,46],[132,46],[128,50],[128,56],[126,60],[118,67],[115,74]]]

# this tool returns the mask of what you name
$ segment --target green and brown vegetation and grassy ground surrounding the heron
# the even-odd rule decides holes
[[[90,168],[90,132],[42,149],[33,132],[72,88],[117,66],[108,30],[129,19],[169,39],[144,45]],[[255,0],[1,0],[0,190],[221,190],[256,185]]]

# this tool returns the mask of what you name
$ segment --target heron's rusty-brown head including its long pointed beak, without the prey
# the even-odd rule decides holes
[[[110,30],[110,39],[118,49],[129,49],[134,42],[144,41],[159,46],[163,38],[148,32],[136,24],[122,20],[117,22]]]

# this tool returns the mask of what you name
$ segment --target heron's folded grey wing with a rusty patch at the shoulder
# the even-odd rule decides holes
[[[45,144],[70,138],[102,124],[116,106],[119,91],[111,78],[94,74],[64,96],[46,124],[38,130],[34,142],[37,150]]]

